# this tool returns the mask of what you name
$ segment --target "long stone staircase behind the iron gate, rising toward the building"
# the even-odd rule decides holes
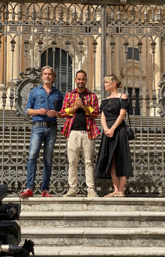
[[[141,170],[148,170],[150,165],[150,170],[153,171],[162,171],[163,163],[162,158],[165,157],[163,155],[163,145],[165,145],[165,119],[160,117],[147,117],[142,116],[142,128],[140,127],[140,116],[130,116],[131,124],[135,126],[135,131],[137,134],[137,139],[135,141],[130,142],[130,150],[131,150],[131,158],[132,164],[134,165],[134,172],[138,170],[141,174]],[[133,122],[134,120],[134,122]],[[31,136],[31,124],[29,121],[24,121],[22,116],[17,118],[14,111],[12,111],[12,118],[10,110],[5,110],[5,122],[3,122],[3,111],[0,110],[0,127],[4,126],[4,131],[1,129],[0,131],[0,166],[2,162],[3,156],[3,179],[7,179],[11,189],[17,189],[21,191],[25,188],[26,183],[26,167],[27,167],[27,159],[29,153],[29,142]],[[60,175],[60,179],[62,183],[60,185],[54,185],[54,180],[57,179],[56,176],[52,177],[51,189],[52,193],[55,191],[54,196],[60,196],[61,193],[66,193],[67,190],[67,173],[68,170],[68,162],[67,162],[67,149],[66,149],[66,138],[60,133],[62,127],[64,126],[65,119],[58,120],[60,126],[58,126],[57,140],[54,147],[53,153],[53,169],[57,171],[58,174],[62,173],[62,177]],[[97,126],[101,129],[100,116],[96,119]],[[156,122],[156,125],[154,125]],[[142,134],[140,130],[142,129]],[[163,130],[163,133],[162,133]],[[156,131],[156,133],[154,133]],[[99,136],[96,140],[96,149],[95,149],[95,159],[94,164],[96,162],[96,157],[100,145]],[[156,145],[156,147],[155,147]],[[59,147],[60,146],[60,147]],[[143,147],[143,152],[141,153],[141,146]],[[156,154],[155,154],[156,149]],[[39,160],[37,163],[37,176],[36,176],[36,192],[35,196],[40,195],[40,181],[42,180],[42,176],[40,170],[43,169],[43,146],[41,147]],[[141,160],[141,156],[143,160]],[[155,157],[156,156],[156,157]],[[82,157],[82,153],[80,152],[80,157]],[[148,161],[149,160],[149,161]],[[62,165],[58,165],[58,164]],[[135,164],[138,165],[135,166]],[[150,164],[148,164],[150,163]],[[80,165],[83,165],[83,163]],[[83,167],[79,166],[80,169]],[[1,170],[0,170],[1,172]],[[17,179],[14,181],[13,172],[17,175]],[[64,174],[65,173],[65,174]],[[145,174],[144,174],[145,175]],[[15,175],[16,176],[16,175]],[[159,176],[159,174],[158,174]],[[138,179],[138,177],[137,177]],[[97,179],[96,179],[97,181]],[[63,183],[64,182],[64,183]],[[100,183],[100,182],[99,182]],[[98,193],[100,194],[100,184],[97,184]],[[141,183],[141,182],[140,182]],[[148,181],[145,184],[148,185]],[[141,185],[141,188],[145,187],[145,185]],[[60,188],[61,186],[61,188]],[[78,188],[81,191],[81,188],[84,185],[80,185]],[[132,185],[134,186],[134,185]],[[150,185],[150,189],[152,185]],[[60,188],[60,189],[59,189]],[[150,190],[149,189],[149,190]],[[144,190],[148,190],[144,188]],[[161,191],[161,190],[160,190]],[[58,194],[56,194],[58,192]],[[83,196],[85,193],[80,192]],[[131,193],[132,194],[132,193]],[[80,196],[82,196],[80,195]],[[136,195],[136,193],[135,193]],[[145,193],[144,193],[145,195]],[[144,196],[143,195],[143,196]],[[159,193],[155,193],[155,196],[160,196]]]

